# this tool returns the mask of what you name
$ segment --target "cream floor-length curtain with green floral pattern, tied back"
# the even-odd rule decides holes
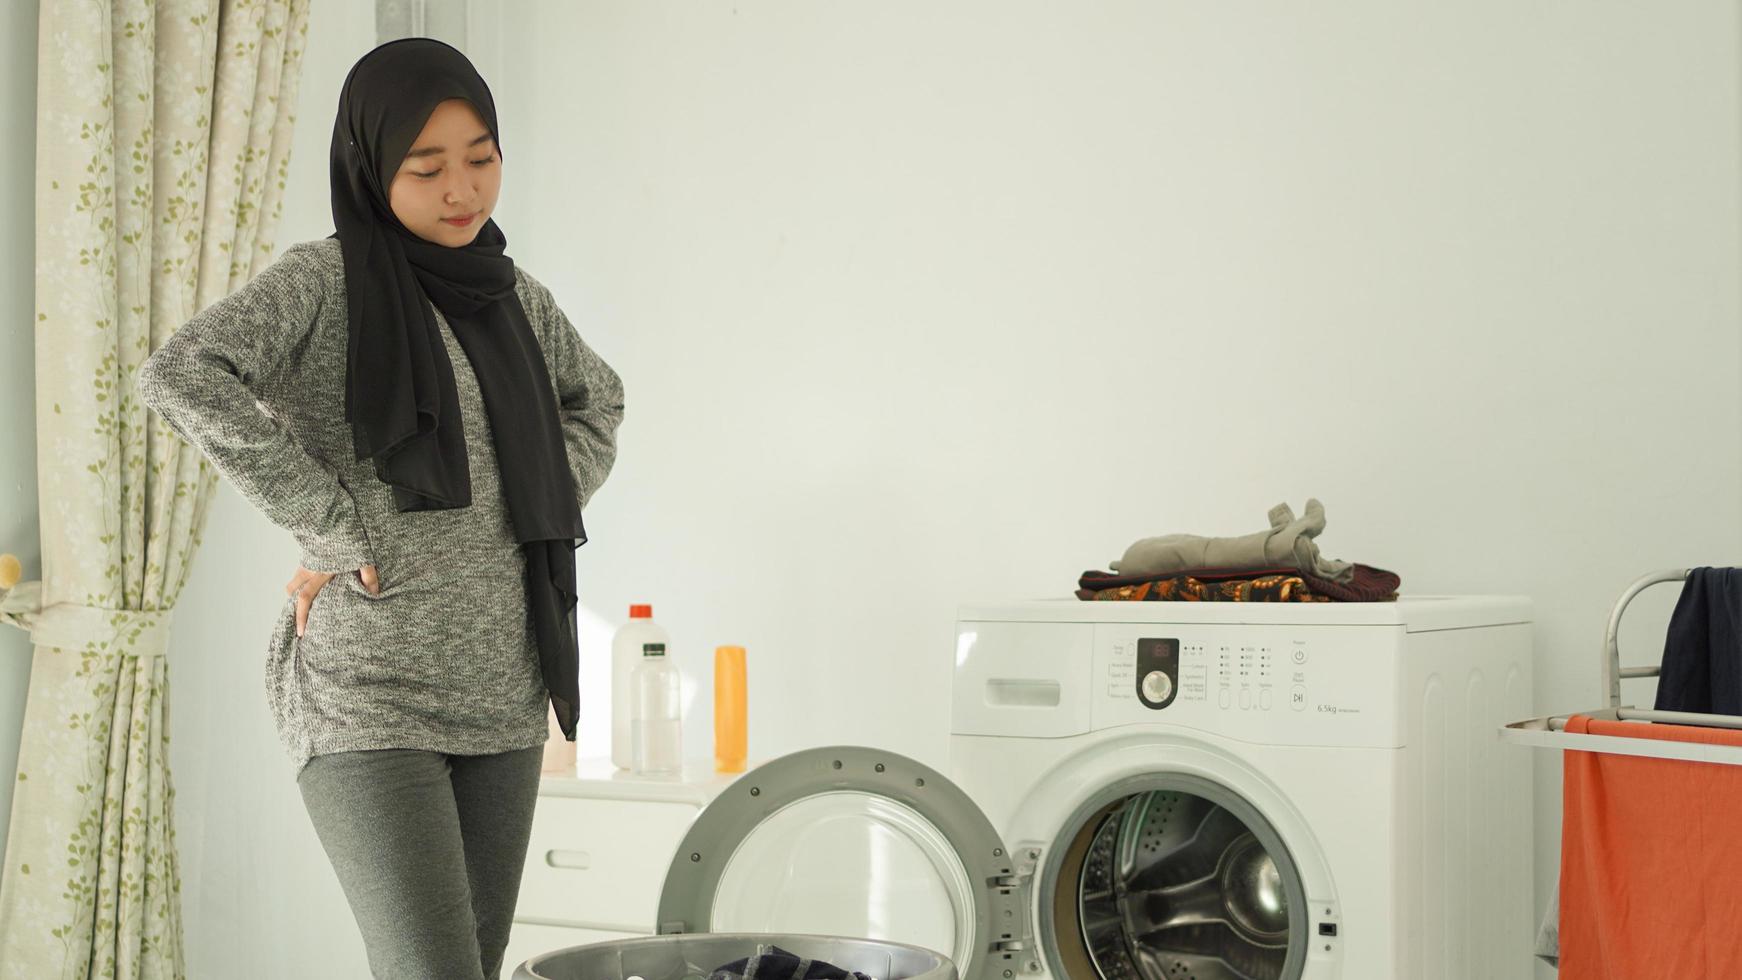
[[[185,977],[171,609],[218,472],[134,373],[272,261],[308,0],[49,0],[37,42],[42,581],[0,869],[5,977]]]

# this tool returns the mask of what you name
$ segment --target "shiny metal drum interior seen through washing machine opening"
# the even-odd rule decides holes
[[[1298,877],[1232,809],[1190,792],[1139,792],[1078,841],[1075,917],[1101,977],[1284,980]]]

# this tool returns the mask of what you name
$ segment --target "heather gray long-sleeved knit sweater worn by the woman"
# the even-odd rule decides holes
[[[617,458],[624,388],[538,280],[514,270],[585,507]],[[345,421],[345,266],[338,238],[300,242],[183,324],[139,369],[141,400],[199,447],[301,564],[338,573],[296,635],[296,597],[267,646],[267,700],[300,775],[357,748],[479,755],[538,745],[549,695],[526,611],[526,559],[502,503],[490,418],[465,350],[436,312],[465,420],[472,505],[401,513]],[[355,569],[375,564],[380,595]],[[286,569],[289,578],[293,569]]]

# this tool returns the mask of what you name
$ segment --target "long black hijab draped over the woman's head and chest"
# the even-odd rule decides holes
[[[514,294],[514,259],[495,219],[462,247],[406,230],[388,186],[444,99],[467,99],[496,138],[496,104],[472,63],[434,38],[399,38],[345,77],[333,120],[333,238],[345,256],[350,315],[345,421],[357,460],[406,510],[470,507],[465,432],[436,313],[472,362],[502,470],[502,496],[526,554],[538,665],[563,735],[575,740],[578,648],[575,548],[587,541],[544,348]],[[509,641],[512,637],[503,637]]]

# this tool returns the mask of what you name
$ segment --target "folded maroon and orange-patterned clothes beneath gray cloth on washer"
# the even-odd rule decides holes
[[[1348,581],[1286,567],[1186,569],[1164,576],[1089,569],[1077,578],[1084,601],[1176,602],[1388,602],[1402,580],[1381,567],[1352,564]]]

